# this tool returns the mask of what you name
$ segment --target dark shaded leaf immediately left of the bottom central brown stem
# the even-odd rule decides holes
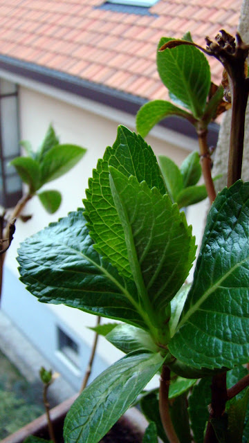
[[[145,415],[148,422],[156,423],[156,429],[160,439],[165,443],[169,443],[160,419],[158,393],[151,392],[148,395],[145,395],[145,397],[142,397],[140,400],[140,406],[142,413]]]

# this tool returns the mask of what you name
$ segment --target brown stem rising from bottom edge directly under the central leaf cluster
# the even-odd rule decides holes
[[[169,383],[170,369],[166,365],[163,365],[159,388],[160,419],[169,443],[180,443],[169,413]]]

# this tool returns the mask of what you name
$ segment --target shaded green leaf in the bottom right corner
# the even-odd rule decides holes
[[[243,427],[248,410],[249,388],[239,399],[232,399],[226,404],[228,413],[228,443],[242,443]]]

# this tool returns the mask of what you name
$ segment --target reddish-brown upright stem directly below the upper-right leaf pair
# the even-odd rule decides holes
[[[197,134],[198,134],[198,141],[200,148],[201,169],[203,173],[203,179],[205,182],[205,187],[208,192],[208,197],[210,199],[210,204],[212,204],[212,202],[215,200],[216,192],[211,175],[212,161],[210,158],[210,152],[208,149],[208,142],[207,142],[208,131],[207,129],[197,128]]]

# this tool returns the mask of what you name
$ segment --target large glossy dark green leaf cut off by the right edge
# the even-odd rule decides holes
[[[208,215],[194,282],[169,350],[195,368],[232,368],[249,354],[249,183],[237,181]]]

